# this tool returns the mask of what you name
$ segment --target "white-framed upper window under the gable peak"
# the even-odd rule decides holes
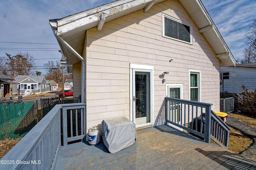
[[[192,44],[192,25],[163,14],[163,36]]]

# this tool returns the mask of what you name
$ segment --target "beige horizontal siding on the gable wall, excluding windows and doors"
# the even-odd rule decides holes
[[[193,45],[162,37],[163,13],[193,25]],[[219,110],[219,60],[182,5],[164,1],[146,13],[139,10],[107,22],[101,31],[96,27],[87,30],[87,128],[100,125],[105,118],[130,118],[130,63],[154,65],[155,125],[165,117],[166,83],[183,84],[183,99],[189,99],[189,69],[201,71],[201,102]],[[165,83],[160,78],[163,71],[169,72]],[[78,86],[75,76],[74,86]]]

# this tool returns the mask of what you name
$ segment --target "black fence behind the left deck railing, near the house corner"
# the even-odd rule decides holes
[[[70,103],[80,103],[81,95],[74,98],[45,98],[41,100],[41,116],[42,118],[54,107],[56,104],[70,104]]]

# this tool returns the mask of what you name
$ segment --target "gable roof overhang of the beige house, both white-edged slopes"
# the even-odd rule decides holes
[[[97,8],[86,10],[78,14],[61,19],[49,20],[54,34],[58,40],[63,55],[69,64],[78,63],[80,60],[62,44],[62,39],[74,48],[82,56],[84,47],[85,31],[97,26],[100,30],[105,22],[120,18],[132,12],[144,9],[147,12],[154,4],[165,0],[118,0]],[[204,8],[200,0],[179,0],[189,16],[204,35],[206,41],[212,47],[216,57],[220,59],[220,66],[235,66],[236,61],[228,49],[224,39],[220,35],[214,22]]]

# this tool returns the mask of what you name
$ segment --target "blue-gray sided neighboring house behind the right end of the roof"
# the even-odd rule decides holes
[[[256,63],[236,64],[234,66],[220,67],[220,92],[240,93],[244,87],[247,90],[256,89]],[[223,90],[222,90],[223,89]]]

